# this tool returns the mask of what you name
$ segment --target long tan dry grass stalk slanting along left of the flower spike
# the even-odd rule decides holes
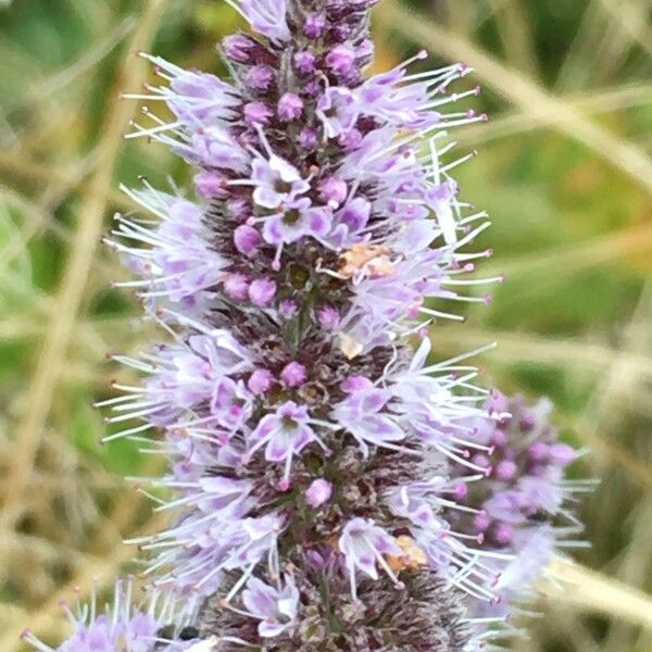
[[[135,54],[151,43],[165,1],[145,2],[138,27],[115,79],[114,97],[117,98],[121,90],[137,88],[145,80],[145,63],[138,61]],[[16,456],[9,475],[11,489],[5,497],[0,522],[9,529],[13,528],[22,514],[22,498],[29,484],[34,456],[65,362],[77,312],[84,299],[87,277],[102,229],[106,195],[113,183],[113,170],[130,113],[131,108],[127,104],[111,104],[104,118],[103,134],[98,146],[97,172],[89,179],[79,205],[79,226],[75,234],[71,259],[53,304],[50,327],[25,399],[23,417],[16,429],[20,446],[16,448]]]

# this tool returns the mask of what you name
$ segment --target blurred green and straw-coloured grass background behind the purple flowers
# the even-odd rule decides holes
[[[384,0],[377,67],[419,47],[466,61],[491,122],[455,134],[479,155],[460,171],[487,208],[494,249],[482,273],[506,283],[464,326],[438,325],[441,353],[487,341],[487,381],[548,394],[564,437],[590,447],[601,478],[582,513],[593,546],[579,582],[542,600],[519,652],[652,650],[652,2]],[[25,626],[61,629],[59,600],[104,586],[161,527],[123,474],[156,462],[102,448],[101,415],[124,371],[109,350],[150,337],[110,281],[98,246],[117,181],[181,187],[163,148],[122,135],[136,106],[120,93],[150,72],[139,50],[222,72],[214,43],[239,26],[220,0],[0,2],[0,650]],[[475,82],[474,82],[475,83]],[[565,570],[568,572],[568,570]]]

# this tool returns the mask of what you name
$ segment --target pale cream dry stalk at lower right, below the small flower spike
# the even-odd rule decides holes
[[[563,602],[579,611],[616,616],[652,629],[652,597],[648,593],[561,559],[550,565],[548,574],[564,587],[562,590],[549,585],[542,587],[551,602]]]

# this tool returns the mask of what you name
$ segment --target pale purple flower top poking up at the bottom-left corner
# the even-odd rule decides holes
[[[99,611],[97,587],[92,584],[88,604],[77,603],[73,610],[62,603],[73,626],[72,636],[60,647],[51,648],[29,630],[23,639],[38,652],[184,652],[199,640],[192,625],[199,604],[195,600],[180,603],[174,592],[150,592],[143,607],[133,604],[133,581],[118,579],[113,603]]]

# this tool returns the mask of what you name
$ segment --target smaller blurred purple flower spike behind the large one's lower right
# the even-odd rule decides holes
[[[507,399],[494,391],[487,408],[509,415],[474,424],[475,440],[491,447],[490,472],[482,481],[460,484],[457,504],[465,511],[448,517],[455,528],[477,536],[485,549],[507,554],[497,564],[500,602],[481,605],[486,613],[506,614],[510,605],[532,597],[532,585],[555,550],[582,544],[577,538],[582,526],[572,506],[592,481],[564,478],[578,452],[557,440],[550,401],[529,406],[523,397]],[[482,454],[467,453],[476,464],[485,463]],[[466,469],[457,464],[452,474],[464,478]]]

